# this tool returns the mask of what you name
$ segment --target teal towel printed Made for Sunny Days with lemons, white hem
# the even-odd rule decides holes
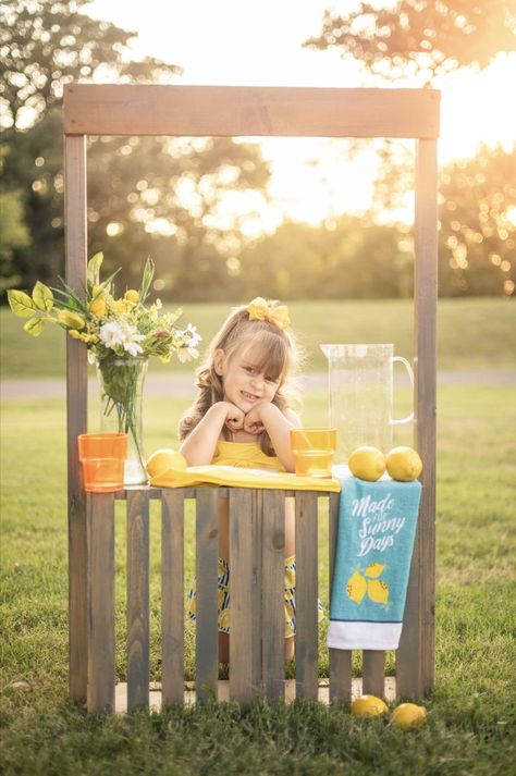
[[[328,646],[400,644],[421,483],[342,478]]]

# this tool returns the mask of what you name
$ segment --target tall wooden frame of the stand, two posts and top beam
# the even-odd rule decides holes
[[[415,222],[415,362],[416,446],[421,453],[422,501],[410,571],[407,607],[398,650],[398,694],[422,695],[434,681],[434,578],[435,578],[435,319],[437,319],[437,138],[440,93],[433,89],[339,89],[241,86],[155,86],[75,84],[64,88],[66,280],[81,291],[86,275],[86,137],[87,135],[169,136],[312,136],[400,137],[417,140]],[[86,497],[77,456],[77,434],[87,426],[85,346],[66,343],[67,463],[69,463],[69,580],[70,580],[70,693],[77,702],[87,694],[88,580]],[[332,537],[336,520],[331,501]],[[201,500],[198,529],[205,537],[205,517],[211,507]],[[302,510],[303,512],[303,510]],[[302,512],[299,520],[302,521]],[[167,513],[168,514],[168,513]],[[169,515],[171,525],[175,517]],[[208,518],[207,518],[208,519]],[[168,524],[167,524],[168,525]],[[170,529],[170,531],[169,531]],[[211,530],[211,529],[210,529]],[[236,540],[235,540],[236,541]],[[332,550],[330,550],[332,552]],[[303,553],[302,553],[303,555]],[[310,555],[303,555],[307,568]],[[332,557],[330,564],[332,566]],[[211,584],[211,582],[210,582]],[[201,586],[202,587],[202,586]],[[309,602],[310,591],[303,591]],[[204,599],[204,594],[200,595]],[[175,599],[174,599],[175,600]],[[169,606],[170,602],[167,604]],[[305,603],[305,606],[308,605]],[[213,603],[207,593],[209,617]],[[303,618],[303,615],[302,615]],[[170,662],[177,663],[182,644]],[[303,642],[312,652],[311,642]],[[351,689],[351,654],[330,652],[332,687],[344,697]],[[202,676],[208,687],[216,681],[213,662],[204,651]],[[145,662],[147,657],[145,657]],[[167,657],[169,661],[169,657]],[[367,656],[376,685],[382,676],[383,653]],[[143,670],[143,669],[142,669]],[[312,695],[314,676],[308,681]],[[300,679],[299,679],[300,681]],[[305,686],[305,685],[304,685]],[[351,688],[351,685],[349,685]],[[342,692],[341,692],[342,690]],[[333,690],[332,690],[333,691]],[[179,685],[167,686],[176,697]],[[140,690],[135,690],[135,703]]]

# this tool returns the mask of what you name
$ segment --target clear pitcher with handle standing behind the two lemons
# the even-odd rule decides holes
[[[393,345],[321,345],[328,358],[330,426],[337,430],[335,464],[345,464],[360,445],[383,453],[392,448],[393,426],[414,420],[414,412],[392,417],[393,365],[403,364],[414,387],[406,358],[393,356]]]

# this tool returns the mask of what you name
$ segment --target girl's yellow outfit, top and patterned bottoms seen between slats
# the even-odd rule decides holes
[[[285,471],[284,466],[275,456],[266,455],[256,442],[225,442],[219,440],[212,459],[214,466],[235,466],[245,469],[275,469]],[[285,639],[296,632],[296,556],[285,558],[284,576],[284,609],[285,609]],[[219,557],[218,568],[218,612],[219,630],[229,633],[230,627],[230,566],[228,561]],[[196,587],[195,580],[188,592],[187,612],[189,619],[196,618]],[[318,619],[321,620],[323,608],[318,601]]]

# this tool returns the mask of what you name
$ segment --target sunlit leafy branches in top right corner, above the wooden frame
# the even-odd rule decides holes
[[[325,11],[321,33],[305,45],[341,48],[385,78],[408,75],[430,84],[451,70],[483,69],[500,51],[515,51],[515,22],[514,0],[360,2],[345,14]]]

